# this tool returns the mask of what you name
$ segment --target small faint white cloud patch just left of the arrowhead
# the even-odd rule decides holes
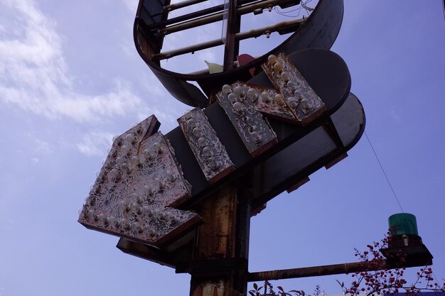
[[[105,155],[105,151],[111,146],[112,138],[112,133],[91,131],[83,137],[81,143],[77,143],[76,147],[80,153],[88,156]]]

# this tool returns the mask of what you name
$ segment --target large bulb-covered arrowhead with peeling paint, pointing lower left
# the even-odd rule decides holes
[[[193,212],[172,208],[190,197],[191,185],[168,141],[160,132],[151,135],[155,123],[151,116],[114,140],[81,224],[158,246],[200,221]]]

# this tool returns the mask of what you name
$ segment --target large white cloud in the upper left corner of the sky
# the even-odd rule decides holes
[[[80,122],[124,115],[144,106],[122,80],[114,80],[113,89],[105,94],[76,92],[55,22],[31,0],[0,0],[0,7],[9,18],[2,18],[5,24],[0,28],[14,26],[0,35],[0,102],[50,119]]]

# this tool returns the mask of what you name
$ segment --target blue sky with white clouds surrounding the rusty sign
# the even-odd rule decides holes
[[[151,114],[166,133],[188,109],[136,53],[136,5],[0,0],[0,296],[188,295],[188,275],[128,256],[116,237],[77,223],[112,136]],[[439,0],[345,0],[332,48],[348,64],[366,132],[404,211],[417,216],[438,278],[445,278],[444,32]],[[354,247],[385,234],[400,208],[366,138],[348,154],[252,218],[251,271],[353,262]],[[341,292],[335,280],[349,278],[281,284],[309,292],[320,284],[333,295]]]

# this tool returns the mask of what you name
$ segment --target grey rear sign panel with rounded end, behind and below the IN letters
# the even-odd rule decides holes
[[[252,173],[257,181],[254,183],[253,209],[337,160],[357,143],[365,128],[365,114],[355,95],[350,94],[331,118],[343,145],[333,141],[330,129],[319,126],[258,165]]]

